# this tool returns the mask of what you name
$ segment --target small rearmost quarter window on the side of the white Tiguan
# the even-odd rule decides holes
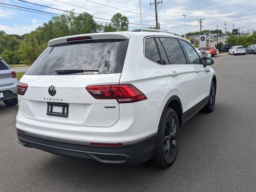
[[[161,60],[158,54],[158,50],[157,50],[156,42],[154,38],[145,39],[145,56],[149,60],[152,60],[158,64],[161,64]]]

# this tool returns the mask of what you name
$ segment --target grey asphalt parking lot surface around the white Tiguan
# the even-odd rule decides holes
[[[256,191],[256,55],[220,54],[214,112],[181,129],[174,164],[104,165],[18,144],[18,106],[0,102],[0,191]]]

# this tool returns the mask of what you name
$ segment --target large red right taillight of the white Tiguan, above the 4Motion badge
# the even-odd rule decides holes
[[[88,86],[86,90],[96,99],[116,99],[118,103],[133,103],[147,99],[132,84]]]

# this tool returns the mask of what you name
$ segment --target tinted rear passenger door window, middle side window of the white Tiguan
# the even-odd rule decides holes
[[[169,58],[170,64],[186,64],[186,58],[182,48],[177,39],[173,38],[160,38],[166,54]]]

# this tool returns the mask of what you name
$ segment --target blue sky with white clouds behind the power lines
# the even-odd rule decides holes
[[[88,12],[96,21],[109,22],[113,14],[119,12],[130,22],[129,28],[140,27],[139,0],[26,0],[36,4],[58,8],[61,10],[75,9],[74,12]],[[150,2],[154,0],[141,0],[142,23],[144,27],[155,26],[155,12],[150,9]],[[184,34],[184,16],[186,16],[186,33],[200,30],[197,20],[203,20],[202,30],[215,30],[216,25],[224,32],[224,22],[227,22],[227,31],[242,27],[256,30],[256,0],[162,0],[159,6],[158,22],[164,30],[176,34]],[[64,4],[65,2],[66,4]],[[62,11],[46,8],[38,5],[21,2],[18,0],[0,0],[0,3],[42,10],[61,14]],[[7,34],[18,34],[35,30],[43,22],[48,22],[52,16],[16,10],[0,4],[0,30]],[[70,5],[69,5],[70,4]],[[72,5],[71,5],[72,4]],[[103,5],[102,5],[103,4]],[[104,6],[107,5],[107,6]],[[78,7],[77,7],[78,6]],[[18,8],[18,7],[16,7]],[[154,7],[151,6],[154,10]],[[161,8],[161,9],[160,9]],[[22,9],[22,8],[20,8]],[[88,10],[90,9],[90,10]],[[104,13],[101,13],[104,12]],[[104,19],[101,19],[104,18]],[[132,24],[131,24],[132,23]]]

